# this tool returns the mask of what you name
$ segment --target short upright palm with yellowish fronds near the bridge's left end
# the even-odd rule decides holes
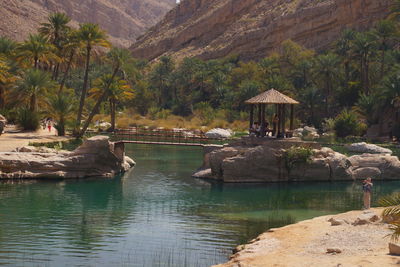
[[[91,96],[99,99],[103,92],[107,90],[108,83],[110,81],[110,75],[101,77],[96,82],[96,87],[90,90]],[[111,127],[109,131],[115,130],[116,122],[116,108],[117,103],[122,101],[132,100],[134,92],[132,87],[125,81],[119,78],[115,78],[109,85],[108,101],[110,103],[110,116],[111,116]]]

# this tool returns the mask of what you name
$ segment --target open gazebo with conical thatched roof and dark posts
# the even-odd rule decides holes
[[[245,102],[250,104],[250,128],[254,124],[254,109],[257,108],[258,111],[258,122],[261,123],[260,136],[264,137],[266,135],[266,125],[265,125],[265,106],[267,104],[274,104],[276,109],[276,114],[278,115],[279,122],[277,125],[277,137],[285,137],[286,129],[286,108],[290,106],[290,131],[293,130],[293,116],[294,116],[294,105],[299,104],[296,100],[278,92],[275,89],[268,90],[258,96],[250,98]]]

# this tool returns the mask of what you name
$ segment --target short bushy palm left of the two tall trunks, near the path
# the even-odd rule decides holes
[[[47,99],[47,106],[49,115],[56,121],[54,127],[57,129],[58,135],[64,136],[66,121],[71,117],[74,111],[74,98],[66,93],[51,95]]]

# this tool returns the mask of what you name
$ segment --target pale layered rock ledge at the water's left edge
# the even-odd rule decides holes
[[[95,136],[72,152],[23,147],[0,153],[0,178],[84,178],[113,177],[135,162],[125,156],[123,144]]]

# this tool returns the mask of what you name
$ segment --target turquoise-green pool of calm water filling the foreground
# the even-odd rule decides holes
[[[0,265],[209,266],[270,227],[361,207],[359,184],[222,185],[190,177],[201,149],[127,153],[137,167],[114,179],[0,184]]]

